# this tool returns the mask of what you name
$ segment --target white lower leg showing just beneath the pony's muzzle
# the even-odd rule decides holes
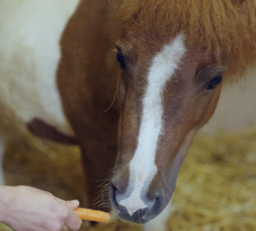
[[[166,231],[167,221],[171,213],[171,201],[168,203],[164,211],[148,223],[143,225],[144,231]]]

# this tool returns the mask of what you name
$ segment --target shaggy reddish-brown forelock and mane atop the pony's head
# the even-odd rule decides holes
[[[255,0],[109,0],[116,21],[159,36],[184,31],[187,42],[230,54],[227,75],[244,73],[256,60]]]

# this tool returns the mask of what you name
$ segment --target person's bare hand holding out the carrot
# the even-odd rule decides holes
[[[76,231],[82,224],[73,211],[78,200],[60,200],[30,186],[1,186],[0,196],[0,219],[15,231]]]

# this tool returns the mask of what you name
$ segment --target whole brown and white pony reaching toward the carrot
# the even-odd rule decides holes
[[[255,61],[255,16],[254,0],[2,0],[2,104],[34,134],[80,145],[89,206],[113,169],[116,214],[164,230],[222,83]]]

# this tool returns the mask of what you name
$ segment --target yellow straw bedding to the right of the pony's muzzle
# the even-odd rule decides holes
[[[256,230],[256,130],[194,142],[173,197],[171,230]]]

